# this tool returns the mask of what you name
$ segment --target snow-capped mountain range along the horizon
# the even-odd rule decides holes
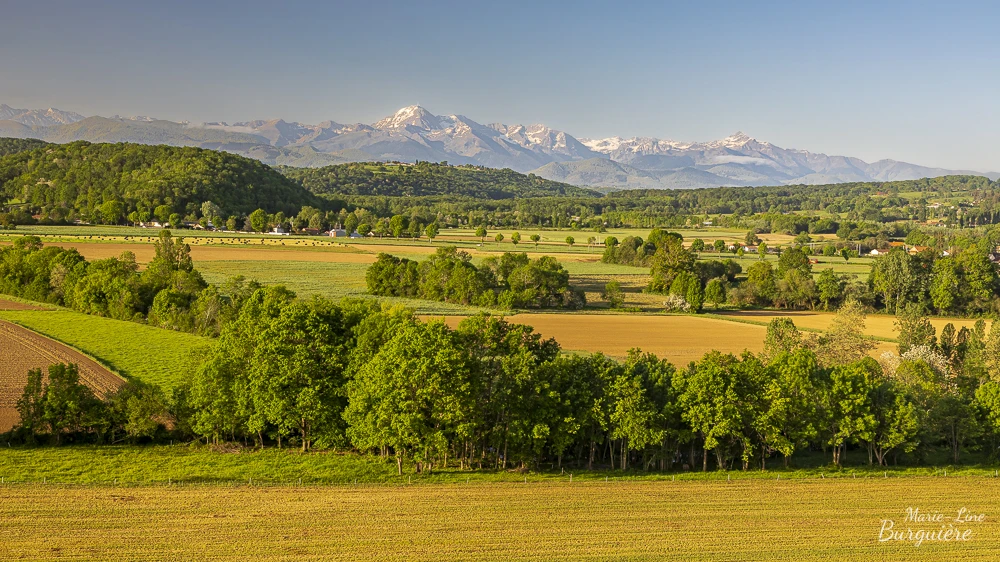
[[[0,136],[199,146],[267,164],[302,167],[372,160],[448,161],[511,168],[605,189],[825,184],[951,174],[1000,177],[785,149],[741,132],[702,143],[648,137],[577,139],[545,125],[484,125],[462,115],[434,115],[420,106],[404,107],[372,124],[307,125],[282,119],[192,124],[149,117],[85,118],[51,108],[0,105]]]

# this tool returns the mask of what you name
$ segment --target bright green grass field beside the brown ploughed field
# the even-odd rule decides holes
[[[2,310],[0,318],[61,341],[126,378],[169,389],[188,380],[211,340],[66,309]]]

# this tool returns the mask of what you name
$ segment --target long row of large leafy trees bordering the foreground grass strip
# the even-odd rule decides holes
[[[563,354],[486,314],[450,329],[398,306],[303,301],[275,286],[246,300],[166,414],[138,399],[105,408],[126,412],[118,439],[150,425],[133,437],[165,438],[169,425],[210,443],[373,453],[400,471],[745,470],[800,457],[842,465],[849,454],[878,465],[974,452],[995,461],[1000,324],[936,334],[910,310],[897,319],[898,354],[875,360],[864,319],[857,303],[822,334],[776,319],[760,354],[713,351],[677,367],[638,349],[624,360]],[[16,432],[109,442],[105,422],[66,410],[99,408],[60,398],[78,391],[67,374],[50,371],[43,391],[32,374]]]

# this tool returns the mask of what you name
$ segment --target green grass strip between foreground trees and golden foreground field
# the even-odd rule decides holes
[[[198,443],[173,445],[74,445],[63,447],[0,448],[0,477],[6,483],[50,483],[72,485],[147,486],[187,484],[458,484],[465,482],[602,482],[608,481],[713,481],[713,480],[828,480],[828,479],[922,479],[994,478],[991,464],[942,464],[880,467],[866,464],[863,451],[852,451],[842,467],[829,464],[820,452],[797,457],[793,468],[772,459],[761,471],[643,472],[640,470],[594,469],[567,464],[562,469],[546,463],[541,470],[459,470],[456,466],[417,473],[410,461],[397,473],[395,459],[378,456],[313,451],[297,448],[257,449],[238,445],[214,448]]]

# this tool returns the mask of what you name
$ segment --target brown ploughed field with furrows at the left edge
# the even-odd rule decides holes
[[[43,371],[54,363],[76,363],[80,380],[98,395],[115,390],[125,381],[86,355],[31,330],[0,320],[0,432],[17,421],[15,406],[24,390],[28,371]]]

